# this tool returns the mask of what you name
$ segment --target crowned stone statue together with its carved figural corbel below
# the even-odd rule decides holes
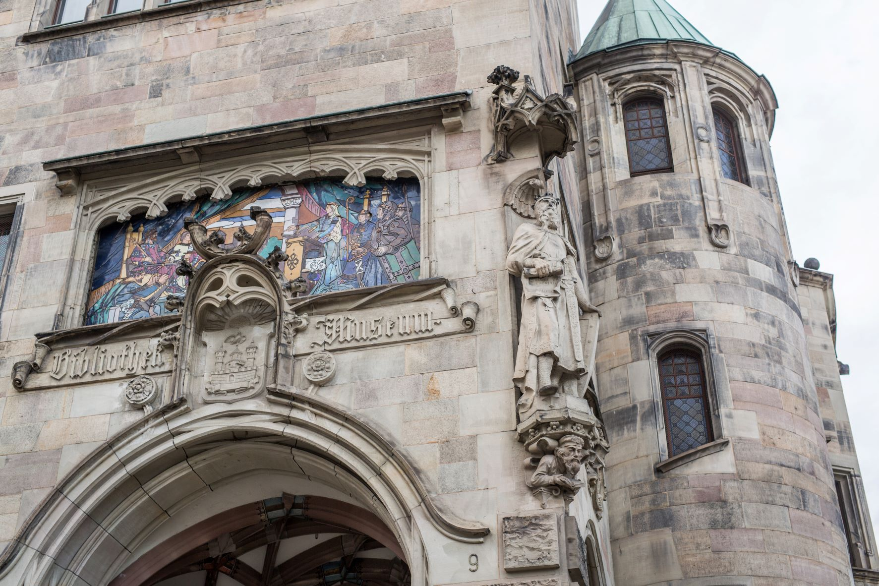
[[[522,280],[522,315],[513,383],[519,388],[519,438],[535,457],[527,481],[543,506],[548,497],[565,502],[583,486],[586,468],[593,506],[604,500],[603,461],[607,440],[582,397],[586,373],[580,310],[599,314],[586,298],[575,266],[577,250],[561,234],[559,202],[550,193],[534,202],[537,224],[522,224],[512,236],[506,267]],[[599,314],[600,315],[600,314]]]

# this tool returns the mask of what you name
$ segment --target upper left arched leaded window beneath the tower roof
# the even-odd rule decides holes
[[[657,98],[635,98],[623,106],[632,175],[672,170],[665,105]]]

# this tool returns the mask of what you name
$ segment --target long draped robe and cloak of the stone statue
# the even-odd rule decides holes
[[[531,402],[537,387],[537,357],[554,358],[553,374],[585,373],[583,346],[580,340],[580,316],[577,303],[578,276],[573,246],[554,230],[534,224],[522,224],[512,236],[506,255],[506,268],[522,277],[522,321],[519,350],[513,382]],[[563,274],[543,279],[522,276],[529,258],[542,258],[549,264],[561,264]]]

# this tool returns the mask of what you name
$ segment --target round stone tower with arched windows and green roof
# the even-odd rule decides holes
[[[772,88],[664,0],[570,69],[616,583],[849,583]]]

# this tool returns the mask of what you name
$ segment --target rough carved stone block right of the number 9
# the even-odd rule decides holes
[[[559,567],[556,513],[503,517],[501,532],[506,571]]]

